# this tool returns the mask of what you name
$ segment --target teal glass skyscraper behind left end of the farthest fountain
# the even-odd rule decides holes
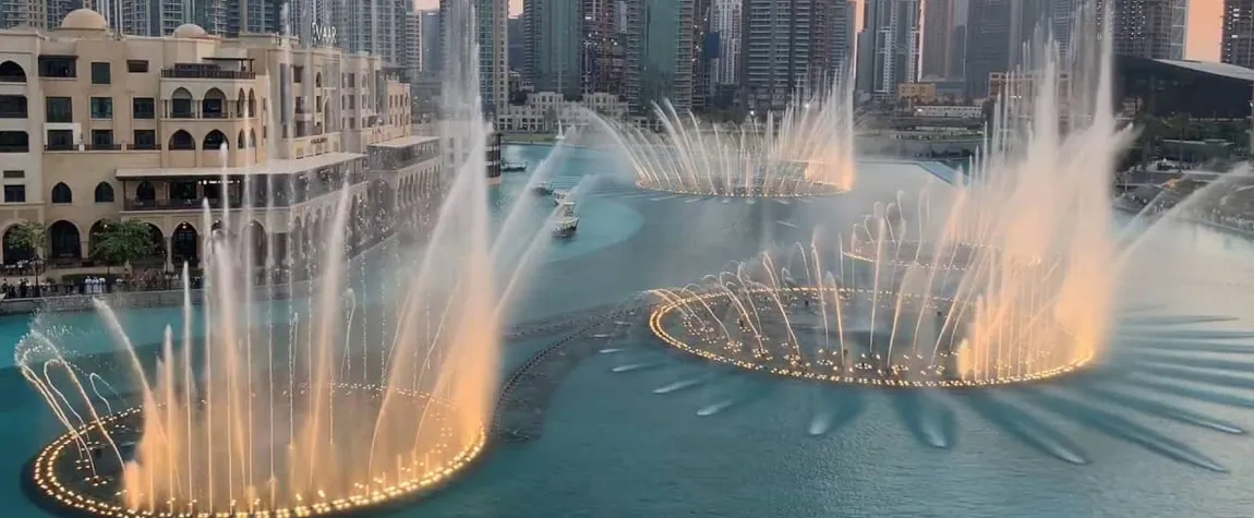
[[[695,0],[624,0],[627,59],[624,94],[632,110],[670,99],[692,108]]]

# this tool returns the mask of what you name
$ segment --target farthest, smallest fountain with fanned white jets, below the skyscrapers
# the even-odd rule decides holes
[[[838,194],[854,183],[851,85],[799,95],[782,117],[732,127],[653,107],[663,133],[599,119],[645,189],[722,197]]]

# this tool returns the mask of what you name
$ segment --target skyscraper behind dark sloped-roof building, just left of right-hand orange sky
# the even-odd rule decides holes
[[[1111,8],[1115,54],[1184,59],[1188,0],[1097,0],[1097,13],[1107,3]]]

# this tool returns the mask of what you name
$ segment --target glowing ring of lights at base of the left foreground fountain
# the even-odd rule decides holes
[[[354,384],[339,385],[337,389],[365,389],[382,393],[382,388],[376,385]],[[413,390],[396,390],[398,394],[414,399],[424,399],[445,409],[451,409],[446,401],[419,394]],[[87,440],[89,452],[103,452],[104,445],[93,435],[100,431],[118,431],[123,428],[138,429],[142,423],[143,411],[138,406],[104,415],[99,421],[83,425],[74,431],[66,431],[44,447],[28,463],[28,469],[23,475],[28,495],[41,507],[54,510],[59,515],[76,517],[122,517],[122,518],[203,518],[203,517],[229,517],[229,518],[278,518],[278,517],[327,517],[327,515],[361,515],[361,513],[382,512],[391,507],[410,502],[414,498],[429,494],[449,483],[455,475],[465,472],[483,453],[487,441],[487,431],[480,429],[474,440],[448,462],[434,465],[413,477],[393,482],[386,487],[375,487],[370,492],[361,492],[349,495],[327,494],[317,500],[311,500],[302,505],[233,509],[233,510],[208,510],[208,509],[145,509],[128,508],[117,500],[119,489],[119,477],[83,477],[88,470],[88,459],[84,459],[79,439]]]

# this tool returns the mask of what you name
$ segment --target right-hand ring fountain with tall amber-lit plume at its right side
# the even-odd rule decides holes
[[[1110,171],[1130,132],[1110,103],[1110,50],[1087,46],[1063,64],[1042,44],[1041,65],[1012,74],[969,178],[899,193],[848,237],[816,231],[795,253],[660,290],[652,331],[712,361],[833,383],[986,386],[1090,365],[1120,275]]]

